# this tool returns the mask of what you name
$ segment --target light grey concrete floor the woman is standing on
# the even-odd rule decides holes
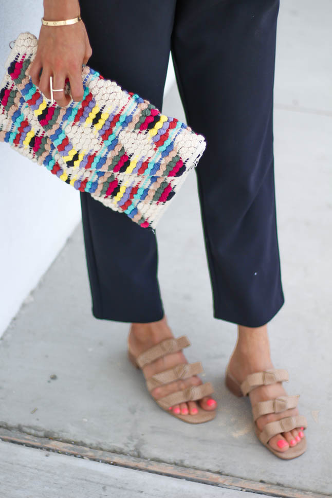
[[[328,10],[327,2],[320,3]],[[320,25],[318,9],[315,7],[313,12],[310,5],[292,0],[280,10],[274,156],[285,304],[269,324],[275,367],[287,368],[288,393],[301,394],[299,409],[309,423],[307,452],[291,462],[272,455],[253,434],[249,401],[235,398],[224,386],[224,369],[234,346],[236,326],[212,318],[212,294],[194,172],[157,228],[159,280],[175,336],[188,335],[192,342],[186,350],[188,360],[202,361],[203,379],[214,384],[219,402],[217,417],[209,423],[191,426],[160,410],[146,392],[141,372],[127,361],[128,324],[96,320],[91,315],[80,224],[0,341],[1,427],[174,466],[288,486],[298,493],[289,496],[332,493],[329,313],[332,107],[323,90],[317,94],[320,85],[325,88],[324,81],[313,78],[309,68],[311,83],[304,91],[299,82],[306,80],[306,74],[300,66],[294,69],[298,59],[285,43],[291,39],[290,30],[298,36],[302,33],[307,60],[316,61],[315,40],[306,38],[305,30],[300,27],[307,22],[309,32],[316,26],[323,36],[325,17],[321,12]],[[308,14],[310,9],[312,16]],[[326,51],[329,60],[327,47],[321,50]],[[328,66],[325,69],[330,70]],[[294,84],[296,78],[298,86]],[[315,93],[312,99],[310,91]],[[184,120],[179,105],[177,90],[173,88],[165,99],[163,112]],[[57,379],[50,379],[53,374]],[[30,458],[26,448],[4,445],[0,445],[0,455],[7,455],[6,461],[17,458],[17,462],[23,462],[24,458]],[[35,468],[42,469],[43,458],[37,455],[38,451],[29,449],[35,455]],[[21,454],[22,460],[13,452]],[[67,461],[80,479],[84,469],[74,469],[77,463],[72,460],[70,456],[54,456],[54,475],[62,472],[61,466]],[[91,475],[107,473],[92,467]],[[6,466],[2,471],[5,476],[6,472],[10,474]],[[119,477],[118,473],[118,478],[127,478],[128,482],[136,478],[124,474]],[[107,483],[113,477],[108,474]],[[141,476],[138,483],[143,478],[149,492],[137,492],[139,496],[152,496],[156,486],[160,489],[167,486],[162,476]],[[168,483],[169,489],[174,489],[173,482]],[[191,496],[202,493],[195,484],[188,488]],[[177,483],[177,494],[187,496],[187,488],[182,492],[176,486]],[[136,496],[133,487],[122,488],[123,494],[119,496],[129,495],[128,490]],[[32,489],[33,486],[31,495]],[[45,495],[36,490],[34,496]],[[220,494],[225,490],[215,491],[217,494],[206,491],[202,494],[228,496]],[[232,491],[234,496],[238,493]],[[4,496],[23,495],[17,491]]]

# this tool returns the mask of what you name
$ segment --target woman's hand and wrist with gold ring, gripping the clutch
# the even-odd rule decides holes
[[[47,2],[47,0],[46,0]],[[62,1],[58,0],[61,8]],[[44,0],[45,7],[45,0]],[[46,5],[47,7],[47,5]],[[73,13],[75,12],[75,13]],[[49,11],[44,19],[46,21],[58,21],[71,19],[79,14],[79,5],[75,11],[66,10],[66,7]],[[53,88],[64,88],[66,78],[69,79],[70,94],[74,101],[83,98],[82,64],[86,64],[92,55],[88,35],[83,21],[67,26],[41,26],[38,48],[31,63],[30,76],[32,83],[39,87],[42,93],[51,98],[50,76],[53,77]],[[42,69],[42,75],[40,71]],[[70,102],[70,96],[64,91],[53,93],[54,100],[61,107]]]

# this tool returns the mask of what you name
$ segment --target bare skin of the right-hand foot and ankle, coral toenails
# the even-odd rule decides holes
[[[238,340],[229,363],[229,371],[237,382],[242,383],[247,375],[274,368],[269,349],[267,326],[251,328],[238,326]],[[251,405],[259,401],[287,395],[282,384],[262,385],[249,393]],[[281,413],[268,413],[257,418],[256,425],[260,431],[269,422],[280,420],[284,417],[299,415],[297,408],[285,410]],[[303,427],[298,427],[289,432],[282,432],[273,436],[268,444],[276,451],[287,451],[289,447],[296,446],[304,437]]]

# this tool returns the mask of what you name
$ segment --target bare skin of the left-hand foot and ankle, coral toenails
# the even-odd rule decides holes
[[[155,346],[164,339],[170,338],[174,338],[174,336],[172,330],[168,326],[167,319],[164,316],[157,322],[132,323],[128,335],[128,343],[131,352],[135,358],[137,358],[141,353],[146,351],[146,349]],[[145,365],[142,368],[142,372],[145,379],[149,379],[153,375],[163,372],[168,368],[172,368],[179,363],[188,363],[182,351],[170,353],[161,358],[157,358],[157,360]],[[180,379],[163,386],[158,386],[151,391],[151,395],[155,399],[160,399],[176,391],[182,391],[191,385],[197,386],[200,384],[202,384],[201,379],[197,375],[193,375],[188,379]],[[182,415],[196,415],[198,412],[198,404],[202,409],[207,411],[215,410],[217,406],[215,399],[211,396],[205,396],[197,401],[188,401],[186,403],[175,404],[170,407],[169,410],[173,410],[175,414],[181,413]]]

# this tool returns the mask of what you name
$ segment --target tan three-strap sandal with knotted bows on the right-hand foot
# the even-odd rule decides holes
[[[244,382],[240,384],[229,372],[229,364],[226,368],[225,383],[227,388],[233,394],[235,394],[235,396],[248,396],[250,391],[258,388],[260,385],[274,384],[275,382],[283,381],[288,381],[287,370],[273,369],[266,370],[264,372],[249,374],[247,375]],[[292,431],[297,427],[303,427],[304,429],[306,429],[307,419],[303,415],[297,415],[295,417],[284,417],[281,420],[267,423],[264,426],[263,431],[260,431],[257,427],[256,420],[261,415],[266,415],[267,413],[280,413],[290,408],[296,408],[299,397],[299,394],[296,394],[294,396],[278,396],[278,398],[269,399],[267,401],[260,401],[252,406],[254,428],[257,438],[259,438],[262,444],[274,455],[284,460],[296,458],[297,456],[300,456],[305,452],[305,450],[307,449],[306,437],[304,436],[296,446],[290,446],[286,451],[274,450],[268,444],[269,440],[276,434]]]

